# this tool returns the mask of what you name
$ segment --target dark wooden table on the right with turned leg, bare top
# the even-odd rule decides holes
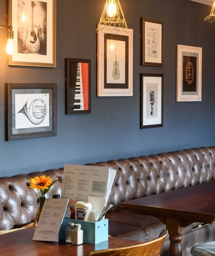
[[[119,204],[131,212],[154,216],[166,224],[169,256],[181,256],[185,226],[193,222],[211,223],[215,219],[215,182],[146,196]]]

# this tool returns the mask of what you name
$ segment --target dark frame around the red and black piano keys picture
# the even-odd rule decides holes
[[[76,63],[87,63],[88,64],[88,109],[84,110],[72,110],[70,105],[74,102],[69,102],[69,96],[74,96],[74,90],[69,92],[69,84],[76,82],[76,71],[75,75],[72,74],[73,65]],[[91,60],[84,59],[65,59],[65,114],[88,114],[91,113]]]

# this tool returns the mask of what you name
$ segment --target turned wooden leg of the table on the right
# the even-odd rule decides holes
[[[182,256],[182,234],[185,230],[181,227],[180,220],[166,218],[166,229],[169,233],[169,256]]]

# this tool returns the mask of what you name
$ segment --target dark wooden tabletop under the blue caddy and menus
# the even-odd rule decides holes
[[[35,227],[28,227],[0,235],[0,255],[12,256],[87,256],[89,252],[107,248],[119,248],[139,244],[141,242],[109,237],[108,241],[97,244],[72,245],[59,242],[32,240]]]

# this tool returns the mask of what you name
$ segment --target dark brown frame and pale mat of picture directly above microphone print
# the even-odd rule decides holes
[[[145,37],[147,33],[147,31],[145,30],[145,22],[154,24],[154,26],[157,26],[157,24],[158,26],[161,25],[161,42],[159,42],[161,46],[158,47],[158,50],[161,51],[160,62],[148,61],[145,57],[145,53],[146,53]],[[161,21],[141,18],[141,65],[160,66],[160,67],[163,66],[163,22]]]

